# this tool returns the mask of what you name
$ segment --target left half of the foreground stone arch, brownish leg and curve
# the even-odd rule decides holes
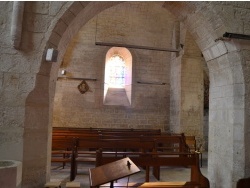
[[[62,60],[68,43],[80,28],[96,14],[117,2],[70,2],[65,10],[54,18],[54,28],[47,31],[46,49],[59,51],[57,62]],[[54,5],[56,6],[56,5]],[[60,6],[60,5],[58,5]],[[65,25],[68,23],[68,27]],[[46,49],[44,53],[46,53]],[[48,63],[41,57],[40,71],[36,76],[34,90],[26,99],[23,136],[22,187],[42,187],[50,178],[51,120],[55,80],[59,63]]]

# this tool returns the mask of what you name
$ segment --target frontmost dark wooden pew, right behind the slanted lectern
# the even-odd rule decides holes
[[[126,154],[128,155],[128,153]],[[161,156],[159,157],[159,155]],[[129,158],[138,166],[146,166],[146,182],[149,181],[149,170],[151,166],[185,166],[191,168],[190,182],[185,183],[185,186],[188,184],[193,184],[195,186],[198,186],[199,188],[209,188],[208,179],[200,172],[198,154],[178,153],[178,155],[179,156],[176,156],[176,154],[165,152],[160,154],[155,152],[132,152],[129,154]],[[156,156],[157,160],[155,160]],[[102,150],[97,151],[98,165],[104,165],[119,159],[121,159],[121,157],[116,156],[114,152],[102,152]],[[176,182],[168,182],[168,184],[169,185],[164,185],[163,187],[170,188],[171,186],[176,186]],[[185,187],[184,185],[180,185],[179,187]],[[159,185],[157,187],[159,187]]]

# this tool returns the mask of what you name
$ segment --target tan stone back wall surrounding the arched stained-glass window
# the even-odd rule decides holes
[[[106,53],[111,47],[95,45],[95,42],[106,42],[170,48],[169,33],[175,20],[160,4],[123,3],[94,17],[79,31],[68,47],[60,70],[66,70],[66,77],[97,81],[86,80],[90,92],[85,94],[77,90],[79,80],[57,81],[53,126],[168,131],[171,53],[128,49],[133,65],[131,106],[107,106],[103,104],[104,69]],[[60,71],[58,76],[62,76]]]

